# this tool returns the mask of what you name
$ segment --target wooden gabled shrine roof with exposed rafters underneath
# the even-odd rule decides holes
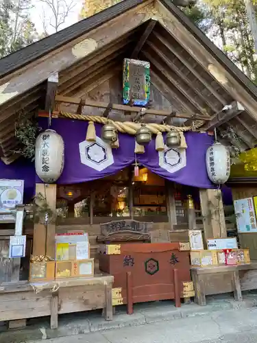
[[[84,99],[114,75],[122,78],[123,58],[149,60],[151,83],[177,113],[211,118],[203,129],[217,126],[240,151],[257,144],[256,86],[170,0],[123,0],[0,60],[3,161],[17,157],[19,110],[45,108],[49,75],[59,74],[58,95]],[[222,112],[234,102],[245,110]]]

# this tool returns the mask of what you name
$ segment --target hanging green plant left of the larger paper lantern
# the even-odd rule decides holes
[[[34,115],[28,115],[24,110],[20,110],[15,123],[15,137],[21,142],[21,148],[14,152],[34,161],[36,137],[40,130]]]

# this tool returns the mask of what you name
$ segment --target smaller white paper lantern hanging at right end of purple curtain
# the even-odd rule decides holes
[[[230,152],[221,143],[214,143],[206,152],[208,177],[213,183],[222,185],[230,177]]]

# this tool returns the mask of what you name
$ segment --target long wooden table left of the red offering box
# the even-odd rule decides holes
[[[0,321],[51,316],[51,329],[58,327],[58,314],[105,309],[112,320],[113,276],[2,283],[0,285]]]

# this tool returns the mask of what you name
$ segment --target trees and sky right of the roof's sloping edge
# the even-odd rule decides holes
[[[256,4],[257,0],[254,0],[253,5]],[[198,0],[195,7],[186,8],[184,12],[232,62],[256,82],[254,38],[245,0]]]

